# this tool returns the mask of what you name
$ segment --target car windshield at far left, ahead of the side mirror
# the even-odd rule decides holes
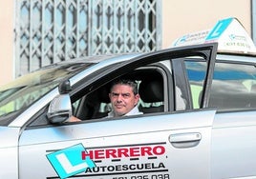
[[[53,65],[51,68],[21,76],[0,87],[0,122],[8,117],[14,118],[13,113],[17,114],[28,108],[34,101],[55,88],[62,79],[73,76],[91,65],[93,64]]]

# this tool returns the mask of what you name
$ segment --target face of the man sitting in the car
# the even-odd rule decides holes
[[[109,94],[116,116],[122,116],[133,109],[139,101],[139,94],[134,94],[128,85],[115,85]]]

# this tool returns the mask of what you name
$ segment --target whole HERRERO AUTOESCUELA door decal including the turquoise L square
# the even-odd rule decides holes
[[[53,164],[53,168],[57,170],[59,166],[66,170],[63,175],[69,176],[75,175],[75,178],[90,177],[95,179],[169,179],[170,173],[168,169],[168,156],[166,151],[166,142],[159,143],[146,143],[146,144],[131,144],[123,146],[105,146],[105,147],[91,147],[83,149],[79,145],[79,149],[69,151],[74,152],[69,155],[73,159],[77,159],[79,162],[65,164],[65,160],[59,160],[56,155],[63,153],[63,150],[58,150],[54,154],[54,161],[58,161],[60,164]],[[75,146],[77,147],[77,145]],[[64,154],[68,156],[65,152]],[[48,156],[49,157],[49,156]],[[60,162],[59,162],[60,161]],[[79,164],[81,161],[86,161],[87,166],[82,168]],[[90,165],[92,164],[92,165]],[[76,167],[77,166],[77,167]],[[69,170],[70,168],[70,170]],[[80,168],[80,169],[79,169]],[[59,170],[59,169],[58,169]],[[62,172],[62,170],[60,172]],[[75,170],[76,172],[73,172]],[[54,178],[53,176],[50,178]]]

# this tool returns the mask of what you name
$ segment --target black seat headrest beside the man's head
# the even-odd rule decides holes
[[[139,84],[139,96],[145,103],[163,101],[162,79],[143,80]]]

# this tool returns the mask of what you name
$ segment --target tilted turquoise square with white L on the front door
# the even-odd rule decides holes
[[[89,157],[82,159],[81,152],[86,151],[82,144],[54,151],[47,154],[47,158],[60,178],[67,178],[86,169],[95,168],[96,165]],[[78,157],[77,157],[78,156]]]

